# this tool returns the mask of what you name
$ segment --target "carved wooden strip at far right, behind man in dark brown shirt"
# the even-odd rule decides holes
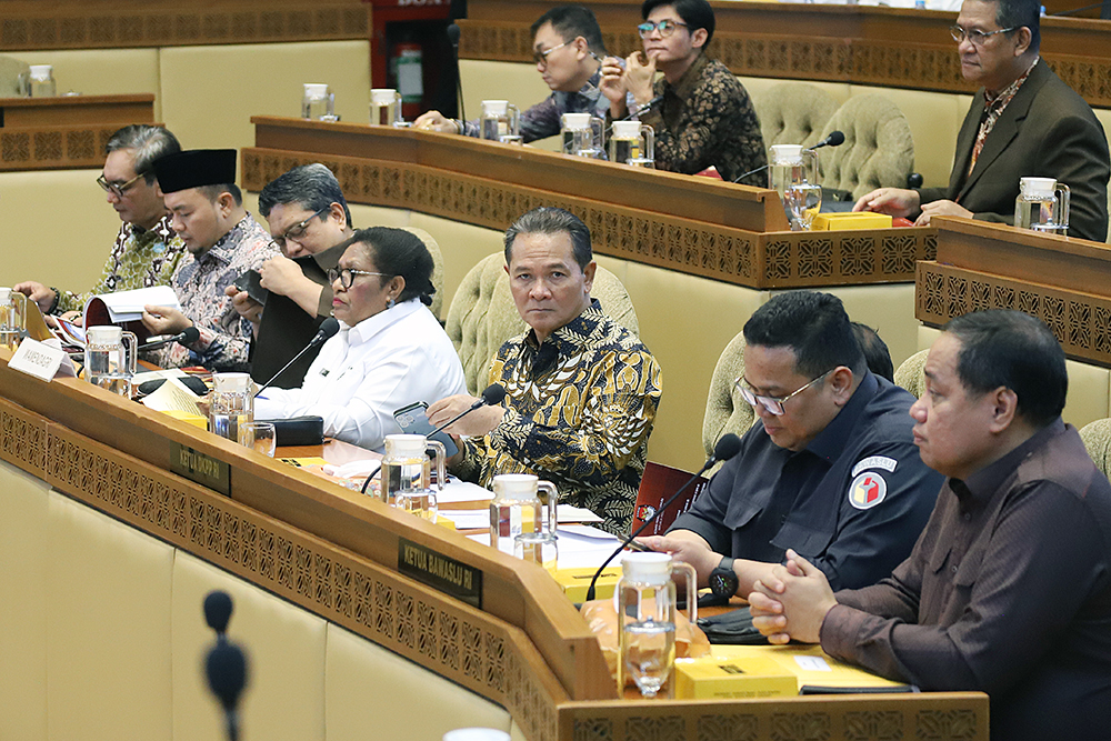
[[[921,262],[914,304],[914,316],[935,326],[972,311],[1018,309],[1044,321],[1065,354],[1111,366],[1111,298]]]

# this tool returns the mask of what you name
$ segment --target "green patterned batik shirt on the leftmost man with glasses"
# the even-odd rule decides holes
[[[151,229],[124,222],[97,284],[86,293],[61,291],[54,312],[82,311],[94,296],[166,286],[184,252],[184,243],[170,228],[169,216]]]

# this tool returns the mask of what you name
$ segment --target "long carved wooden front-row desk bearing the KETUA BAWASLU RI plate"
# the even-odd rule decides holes
[[[988,738],[981,693],[618,700],[598,642],[539,567],[9,358],[0,460],[500,703],[530,741]],[[227,467],[230,495],[171,472],[182,448]],[[481,605],[399,573],[402,540],[481,571]]]

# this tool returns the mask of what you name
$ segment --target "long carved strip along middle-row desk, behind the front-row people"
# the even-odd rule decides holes
[[[937,253],[933,232],[889,229],[758,233],[602,204],[432,167],[266,149],[242,150],[242,184],[258,191],[290,168],[321,162],[347,199],[503,230],[539,206],[558,206],[590,228],[599,254],[749,288],[910,282]]]

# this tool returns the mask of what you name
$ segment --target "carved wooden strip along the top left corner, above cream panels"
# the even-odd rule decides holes
[[[366,39],[370,32],[370,3],[357,0],[297,6],[152,0],[92,8],[54,0],[49,17],[33,4],[6,4],[3,51]]]

